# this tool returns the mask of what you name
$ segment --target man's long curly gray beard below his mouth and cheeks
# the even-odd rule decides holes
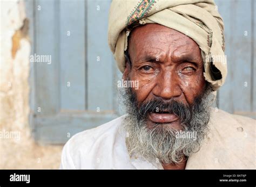
[[[123,126],[130,157],[142,156],[146,160],[163,164],[177,164],[192,153],[198,152],[209,130],[208,121],[214,98],[210,86],[206,87],[203,95],[193,104],[190,111],[181,114],[184,115],[181,118],[190,117],[189,120],[181,123],[182,134],[194,132],[196,139],[184,135],[177,138],[177,133],[179,135],[181,130],[174,130],[163,124],[156,124],[153,128],[147,127],[146,119],[139,115],[137,99],[131,88],[126,88],[121,94],[128,113]]]

